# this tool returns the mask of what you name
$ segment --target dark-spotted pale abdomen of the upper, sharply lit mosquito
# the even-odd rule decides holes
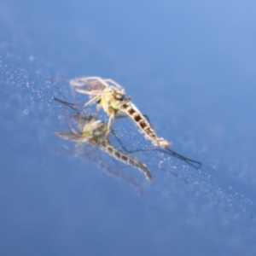
[[[143,131],[146,137],[150,139],[154,145],[166,148],[170,146],[170,143],[168,143],[164,138],[158,137],[152,128],[152,126],[149,124],[148,120],[145,119],[142,113],[140,113],[137,108],[134,108],[130,102],[124,102],[123,104],[120,104],[119,109],[123,112],[125,112],[127,115],[131,117],[135,121],[135,123],[140,127],[140,129]]]

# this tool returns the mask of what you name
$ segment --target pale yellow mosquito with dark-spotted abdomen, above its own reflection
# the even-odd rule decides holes
[[[171,143],[167,142],[163,137],[158,137],[154,128],[148,119],[141,113],[137,107],[131,102],[130,96],[125,96],[125,89],[115,82],[113,79],[102,79],[100,77],[83,77],[79,79],[71,79],[68,81],[71,86],[85,87],[75,88],[76,91],[90,96],[90,100],[81,104],[86,107],[90,103],[97,103],[97,110],[103,108],[108,114],[108,130],[111,127],[112,120],[118,113],[128,115],[139,127],[146,138],[152,141],[155,146],[167,148]],[[71,103],[71,105],[77,105]]]

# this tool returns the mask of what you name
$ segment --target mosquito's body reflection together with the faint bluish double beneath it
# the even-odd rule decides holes
[[[58,102],[64,103],[61,100],[55,99]],[[120,172],[119,168],[110,166],[106,161],[102,160],[100,154],[96,153],[96,148],[101,148],[102,151],[107,153],[115,160],[119,160],[125,165],[130,165],[140,172],[143,172],[147,180],[151,180],[151,173],[148,168],[135,157],[122,152],[118,148],[115,148],[108,140],[109,130],[102,120],[96,119],[95,115],[89,115],[85,112],[79,112],[77,109],[69,106],[73,109],[72,115],[67,115],[68,125],[70,131],[54,131],[54,133],[63,139],[75,142],[74,152],[80,156],[93,160],[97,166],[102,170],[113,174],[116,177],[120,177],[125,181],[132,183],[138,187],[135,180],[127,174]],[[73,128],[72,122],[75,123],[76,128]]]

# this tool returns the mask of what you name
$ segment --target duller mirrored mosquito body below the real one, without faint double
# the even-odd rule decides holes
[[[59,99],[55,100],[67,104]],[[78,131],[73,128],[71,128],[72,132],[54,131],[58,137],[79,143],[79,145],[82,143],[90,143],[91,146],[99,146],[114,159],[136,167],[139,171],[143,172],[146,179],[152,179],[151,173],[142,162],[128,154],[125,154],[118,148],[115,148],[108,141],[108,134],[110,131],[108,129],[108,125],[106,125],[102,120],[96,119],[95,115],[88,115],[78,111],[76,111],[76,115],[76,119],[78,120]]]

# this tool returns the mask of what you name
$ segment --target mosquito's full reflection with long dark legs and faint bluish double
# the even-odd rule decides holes
[[[104,122],[102,122],[99,119],[96,119],[96,116],[88,115],[86,113],[79,112],[76,108],[73,108],[73,106],[70,105],[70,103],[62,101],[60,99],[54,98],[55,101],[61,102],[62,104],[67,105],[69,108],[72,108],[74,111],[73,119],[75,119],[76,125],[78,126],[78,131],[73,129],[72,125],[70,125],[70,119],[67,119],[69,122],[69,126],[71,128],[71,132],[65,132],[65,131],[55,131],[55,134],[63,139],[67,139],[69,141],[76,142],[76,151],[80,152],[79,154],[87,154],[87,157],[90,157],[90,159],[93,159],[95,162],[100,163],[98,166],[102,167],[102,169],[107,170],[108,172],[111,172],[109,170],[108,164],[102,160],[99,159],[98,154],[90,154],[90,150],[84,151],[84,147],[91,146],[98,146],[102,148],[103,151],[105,151],[108,155],[113,157],[116,160],[123,161],[127,165],[131,165],[136,167],[138,170],[143,172],[144,176],[151,180],[152,176],[150,172],[148,171],[148,168],[139,160],[132,157],[131,153],[136,152],[143,152],[143,151],[159,151],[164,154],[172,155],[176,157],[179,160],[183,160],[186,162],[189,166],[193,166],[195,169],[200,169],[201,162],[196,160],[191,160],[187,157],[184,157],[182,154],[177,154],[175,151],[173,151],[170,148],[148,148],[148,149],[137,149],[137,150],[127,150],[123,143],[120,141],[119,137],[115,134],[115,132],[110,129],[108,130],[108,125],[106,125]],[[113,136],[116,137],[116,139],[119,141],[119,144],[123,148],[123,152],[119,149],[113,147],[113,145],[108,141],[108,135],[109,132],[113,132]],[[92,147],[90,147],[92,148]],[[90,156],[89,156],[90,154]],[[164,168],[158,169],[165,170]],[[184,183],[189,183],[185,178],[179,176],[175,172],[171,172],[170,170],[165,170],[166,172],[169,172],[170,174],[174,175],[175,177],[178,177],[180,180],[182,180]],[[116,175],[116,174],[115,174]],[[118,176],[118,175],[117,175]],[[131,177],[122,177],[125,178],[126,181],[130,183],[136,183],[134,180],[131,182]]]

